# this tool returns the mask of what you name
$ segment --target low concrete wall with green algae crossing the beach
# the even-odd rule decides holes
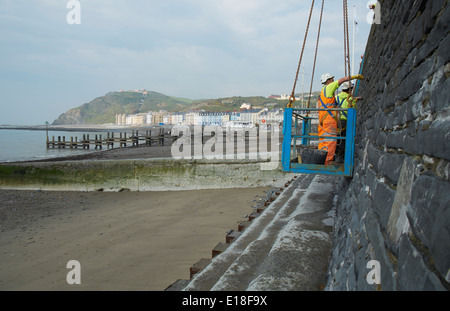
[[[275,164],[275,165],[273,165]],[[292,178],[272,162],[97,160],[0,165],[0,189],[175,191],[278,187]]]

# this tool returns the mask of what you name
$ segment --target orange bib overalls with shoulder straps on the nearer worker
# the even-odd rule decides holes
[[[326,87],[324,86],[319,97],[320,108],[335,108],[336,98],[326,96]],[[338,113],[336,111],[319,111],[319,149],[327,150],[328,155],[325,165],[330,165],[336,152],[337,140],[327,139],[327,136],[338,136]],[[323,138],[325,137],[325,138]]]

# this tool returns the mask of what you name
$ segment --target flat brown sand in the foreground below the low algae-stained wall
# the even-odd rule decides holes
[[[162,291],[189,279],[267,193],[0,190],[0,290]],[[70,260],[81,285],[66,281]]]

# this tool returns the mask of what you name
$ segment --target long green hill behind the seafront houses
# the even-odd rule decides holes
[[[284,108],[288,101],[279,101],[262,96],[191,100],[152,91],[148,91],[146,95],[133,91],[110,92],[95,98],[89,103],[68,110],[61,114],[53,124],[115,123],[116,114],[135,114],[160,110],[186,112],[194,109],[203,109],[211,112],[226,112],[238,110],[244,103],[251,104],[253,107],[268,107],[272,109]]]

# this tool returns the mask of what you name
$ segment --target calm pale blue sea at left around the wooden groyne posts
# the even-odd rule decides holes
[[[70,141],[70,137],[78,137],[78,141],[82,140],[83,134],[89,134],[90,138],[95,135],[103,135],[106,137],[107,132],[72,132],[72,131],[49,131],[50,140],[52,136],[58,139],[58,136],[66,137],[66,141]],[[46,131],[36,130],[10,130],[0,129],[0,163],[1,162],[17,162],[28,160],[51,159],[70,155],[86,154],[95,152],[83,149],[47,149]],[[103,148],[103,150],[106,150]]]

